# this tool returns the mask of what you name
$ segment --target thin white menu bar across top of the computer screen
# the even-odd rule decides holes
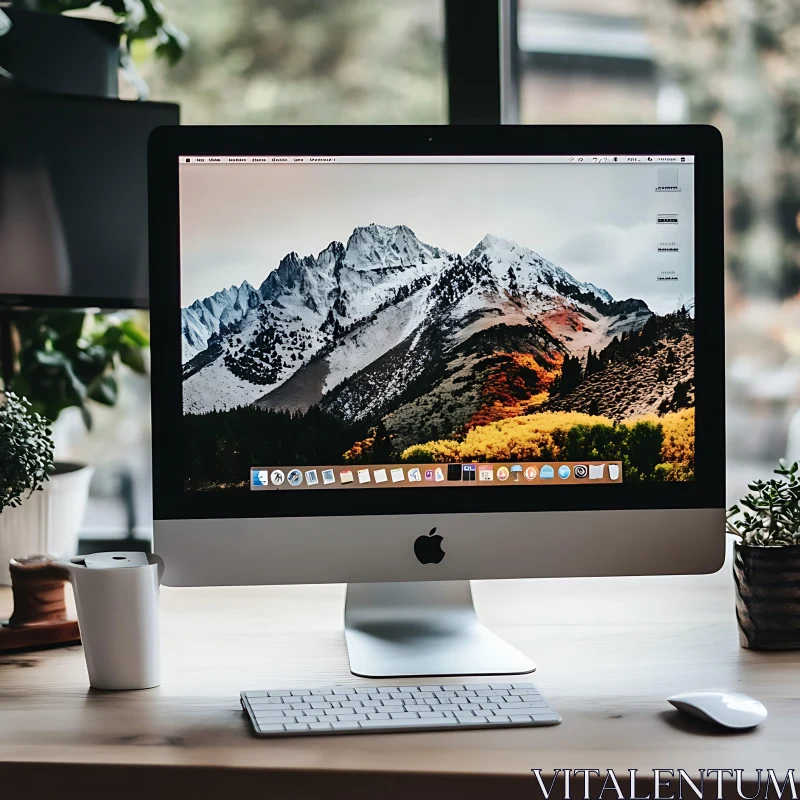
[[[181,164],[693,164],[689,155],[179,156]]]

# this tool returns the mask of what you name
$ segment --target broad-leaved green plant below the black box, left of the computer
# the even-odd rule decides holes
[[[147,334],[132,318],[83,311],[25,311],[12,317],[19,336],[18,372],[9,388],[55,422],[71,406],[92,427],[91,402],[117,402],[116,371],[144,374]]]

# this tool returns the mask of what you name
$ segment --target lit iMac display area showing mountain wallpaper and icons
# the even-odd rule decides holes
[[[694,160],[181,156],[184,488],[694,480]]]

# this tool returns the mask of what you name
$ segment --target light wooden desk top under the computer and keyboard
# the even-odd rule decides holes
[[[344,587],[165,589],[157,689],[90,691],[79,647],[0,657],[0,787],[25,781],[37,787],[26,797],[80,786],[82,798],[146,792],[147,800],[233,791],[418,798],[448,789],[536,798],[533,767],[623,776],[800,767],[800,654],[740,649],[730,564],[707,577],[487,582],[474,593],[483,620],[537,661],[533,680],[562,725],[255,739],[240,689],[368,685],[348,671]],[[2,590],[0,615],[8,601]],[[708,687],[755,695],[769,719],[750,733],[720,734],[664,700]]]

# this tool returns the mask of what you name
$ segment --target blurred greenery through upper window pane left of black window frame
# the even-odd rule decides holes
[[[168,0],[175,67],[137,68],[184,124],[447,121],[441,0]]]

